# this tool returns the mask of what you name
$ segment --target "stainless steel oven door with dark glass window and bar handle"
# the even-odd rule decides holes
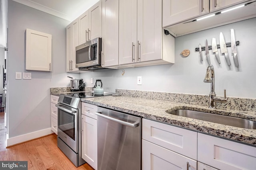
[[[78,152],[78,109],[62,104],[58,107],[58,137]]]

